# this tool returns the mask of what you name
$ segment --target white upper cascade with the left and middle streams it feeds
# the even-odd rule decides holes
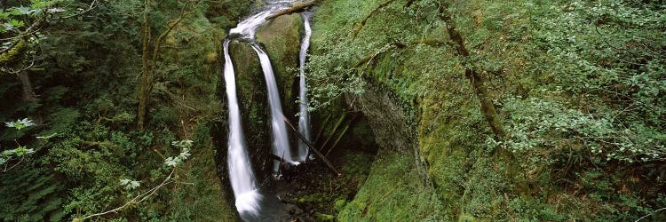
[[[227,155],[229,179],[234,190],[236,209],[241,217],[248,221],[259,220],[258,218],[265,217],[259,215],[259,211],[261,210],[259,209],[260,202],[271,202],[271,198],[270,196],[268,196],[269,198],[264,198],[258,192],[257,181],[250,165],[250,156],[248,155],[242,136],[241,114],[236,97],[234,66],[229,56],[229,43],[232,38],[254,40],[257,28],[266,23],[266,17],[286,8],[286,4],[291,2],[293,1],[267,0],[260,12],[242,20],[236,28],[229,30],[229,37],[224,42],[224,75],[229,104],[229,147]],[[271,125],[274,139],[274,155],[281,156],[286,162],[297,164],[297,162],[293,161],[294,156],[291,155],[289,150],[287,129],[282,120],[284,115],[282,115],[280,96],[278,95],[277,83],[275,82],[270,59],[268,59],[268,55],[266,55],[266,52],[258,44],[252,43],[250,45],[257,52],[261,67],[266,76],[268,99],[272,115]],[[278,172],[278,169],[279,163],[276,162],[274,164],[274,171]],[[270,211],[270,209],[267,210]],[[261,211],[263,214],[266,210]]]

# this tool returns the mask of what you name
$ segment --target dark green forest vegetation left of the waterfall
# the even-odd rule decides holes
[[[0,122],[28,118],[35,125],[19,130],[3,124],[0,130],[0,220],[71,220],[125,203],[131,204],[103,217],[234,217],[215,172],[209,128],[221,108],[214,99],[216,44],[224,29],[247,12],[248,3],[2,4]],[[188,14],[176,23],[183,12]],[[149,117],[140,131],[138,91],[145,53],[153,76]],[[167,158],[182,151],[172,142],[182,140],[193,141],[192,157],[168,165]],[[17,147],[34,154],[8,152]],[[165,178],[175,179],[142,200]]]

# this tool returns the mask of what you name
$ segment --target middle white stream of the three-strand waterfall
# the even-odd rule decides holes
[[[271,127],[273,128],[273,153],[280,156],[285,162],[294,163],[293,156],[289,150],[289,138],[287,137],[287,127],[284,123],[280,94],[278,94],[277,83],[273,74],[273,67],[268,55],[258,44],[251,44],[252,49],[257,52],[259,63],[264,71],[266,78],[266,88],[268,90],[268,105],[271,108]],[[274,171],[277,172],[279,164],[274,164]],[[278,175],[276,175],[278,176]]]

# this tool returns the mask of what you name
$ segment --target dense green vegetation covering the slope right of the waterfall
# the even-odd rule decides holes
[[[352,94],[371,113],[380,98],[368,89],[395,95],[439,196],[369,180],[341,219],[428,219],[414,207],[433,205],[447,220],[626,221],[661,209],[664,12],[622,0],[322,4],[313,97]],[[370,178],[408,175],[375,164]],[[372,210],[392,192],[397,204]]]

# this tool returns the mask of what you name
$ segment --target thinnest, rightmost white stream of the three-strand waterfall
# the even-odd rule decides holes
[[[301,52],[299,55],[299,66],[300,66],[300,93],[298,97],[300,99],[299,104],[299,116],[298,116],[298,131],[303,135],[307,141],[311,141],[310,136],[310,114],[307,112],[307,107],[309,102],[307,99],[307,86],[305,84],[305,57],[307,56],[307,49],[310,47],[310,36],[312,36],[313,30],[310,28],[310,18],[306,14],[301,14],[303,18],[305,27],[305,36],[301,40]],[[307,158],[307,145],[305,142],[298,140],[298,160],[305,161]]]

